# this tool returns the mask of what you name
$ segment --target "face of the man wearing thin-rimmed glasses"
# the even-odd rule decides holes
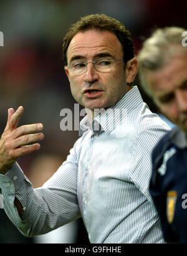
[[[67,50],[68,65],[75,59],[78,62],[123,59],[122,45],[117,36],[109,31],[78,32]],[[123,61],[113,62],[110,72],[97,71],[92,63],[87,64],[87,70],[79,76],[68,68],[65,72],[74,99],[92,111],[111,107],[127,91],[126,77],[129,80],[129,74],[124,69]]]

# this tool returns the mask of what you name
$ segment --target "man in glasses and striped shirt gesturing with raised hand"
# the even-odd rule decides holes
[[[93,14],[70,28],[63,46],[72,95],[87,112],[82,137],[52,178],[33,190],[14,163],[39,149],[27,144],[44,137],[32,135],[42,125],[16,128],[23,107],[9,109],[0,147],[7,215],[27,236],[82,216],[91,243],[163,243],[148,184],[151,150],[169,129],[132,86],[138,65],[130,32]]]

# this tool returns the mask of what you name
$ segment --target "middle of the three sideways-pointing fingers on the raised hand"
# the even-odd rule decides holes
[[[16,147],[21,147],[22,145],[27,145],[42,139],[44,139],[44,134],[42,133],[23,135],[18,137],[16,140],[13,140],[12,148],[16,149]]]

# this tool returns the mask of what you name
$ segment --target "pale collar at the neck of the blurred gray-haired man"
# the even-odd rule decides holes
[[[173,144],[180,149],[185,149],[185,147],[187,147],[186,134],[177,126],[173,130],[171,130],[170,139]]]

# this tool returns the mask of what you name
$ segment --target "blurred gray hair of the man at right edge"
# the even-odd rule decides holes
[[[165,66],[178,51],[186,51],[187,47],[182,46],[182,33],[186,31],[182,27],[164,27],[156,29],[153,34],[143,42],[143,47],[138,53],[138,75],[143,90],[151,95],[146,84],[146,72],[156,71]],[[181,46],[177,47],[176,46]],[[173,49],[175,47],[175,50]]]

